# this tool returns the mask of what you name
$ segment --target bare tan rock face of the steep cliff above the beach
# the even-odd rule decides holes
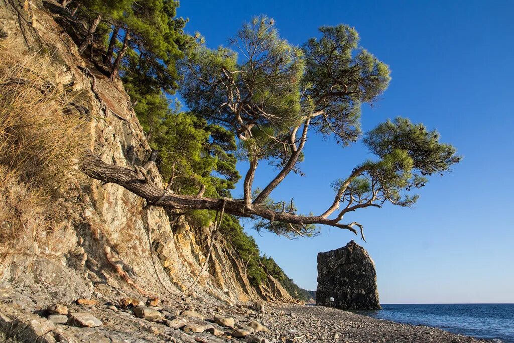
[[[134,168],[135,159],[141,165],[151,150],[130,98],[119,81],[110,82],[78,55],[75,42],[58,24],[67,15],[52,1],[0,2],[0,29],[20,48],[11,58],[21,63],[31,54],[27,46],[49,51],[49,81],[67,89],[70,113],[86,118],[88,149],[109,164]],[[150,174],[162,186],[155,167]],[[6,187],[11,195],[23,193],[20,185]],[[193,283],[206,260],[209,228],[193,229],[163,208],[79,172],[67,187],[71,195],[59,205],[65,220],[39,230],[38,216],[29,220],[29,213],[21,212],[22,220],[27,217],[24,229],[15,241],[0,243],[2,286],[42,295],[48,302],[93,296],[115,302],[122,295],[179,295]],[[189,293],[226,303],[291,300],[271,276],[252,287],[244,269],[237,252],[218,236],[208,268]]]

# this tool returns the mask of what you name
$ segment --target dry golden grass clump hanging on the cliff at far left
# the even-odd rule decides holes
[[[0,40],[0,243],[51,230],[84,149],[81,119],[66,114],[50,57]]]

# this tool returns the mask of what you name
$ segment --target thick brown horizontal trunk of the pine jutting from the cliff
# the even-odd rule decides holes
[[[105,183],[115,183],[144,198],[151,204],[166,206],[172,209],[181,210],[218,210],[222,209],[229,214],[245,218],[263,218],[270,221],[279,221],[289,224],[322,224],[347,229],[355,234],[357,230],[353,227],[357,223],[341,224],[337,220],[329,220],[322,216],[302,216],[287,212],[277,212],[265,205],[247,206],[241,201],[229,198],[209,198],[204,196],[191,196],[168,194],[150,180],[146,179],[141,168],[136,171],[120,166],[106,164],[97,155],[89,154],[81,163],[81,170],[97,180]],[[358,225],[357,225],[358,226]]]

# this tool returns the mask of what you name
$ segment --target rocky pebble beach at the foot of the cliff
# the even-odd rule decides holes
[[[146,299],[139,299],[144,303]],[[88,300],[91,302],[90,300]],[[177,297],[131,309],[123,299],[63,303],[63,323],[50,323],[45,297],[0,288],[0,341],[18,342],[186,342],[186,343],[401,343],[488,342],[440,329],[399,324],[322,306],[240,304]],[[50,305],[50,307],[48,307]],[[141,307],[142,306],[142,307]],[[138,310],[139,309],[139,310]],[[141,309],[145,315],[141,315]],[[148,312],[148,313],[147,313]],[[94,316],[79,325],[74,316]],[[221,318],[221,319],[220,319]],[[43,330],[44,328],[45,330]],[[254,331],[255,330],[255,331]],[[46,333],[45,339],[42,335]],[[51,336],[51,337],[50,337]]]

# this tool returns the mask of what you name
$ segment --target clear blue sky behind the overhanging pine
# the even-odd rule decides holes
[[[308,290],[316,290],[318,252],[354,239],[375,261],[382,303],[514,302],[514,1],[182,0],[178,9],[190,19],[187,31],[200,31],[210,47],[227,44],[258,14],[297,45],[321,25],[354,26],[360,44],[392,70],[382,99],[363,109],[363,130],[405,116],[464,155],[451,173],[430,179],[413,209],[347,214],[364,225],[368,243],[328,227],[292,241],[248,231],[261,250]],[[342,149],[312,135],[306,176],[290,175],[272,197],[321,213],[334,197],[329,184],[367,154],[361,143]],[[262,187],[274,174],[261,166],[254,185]]]

